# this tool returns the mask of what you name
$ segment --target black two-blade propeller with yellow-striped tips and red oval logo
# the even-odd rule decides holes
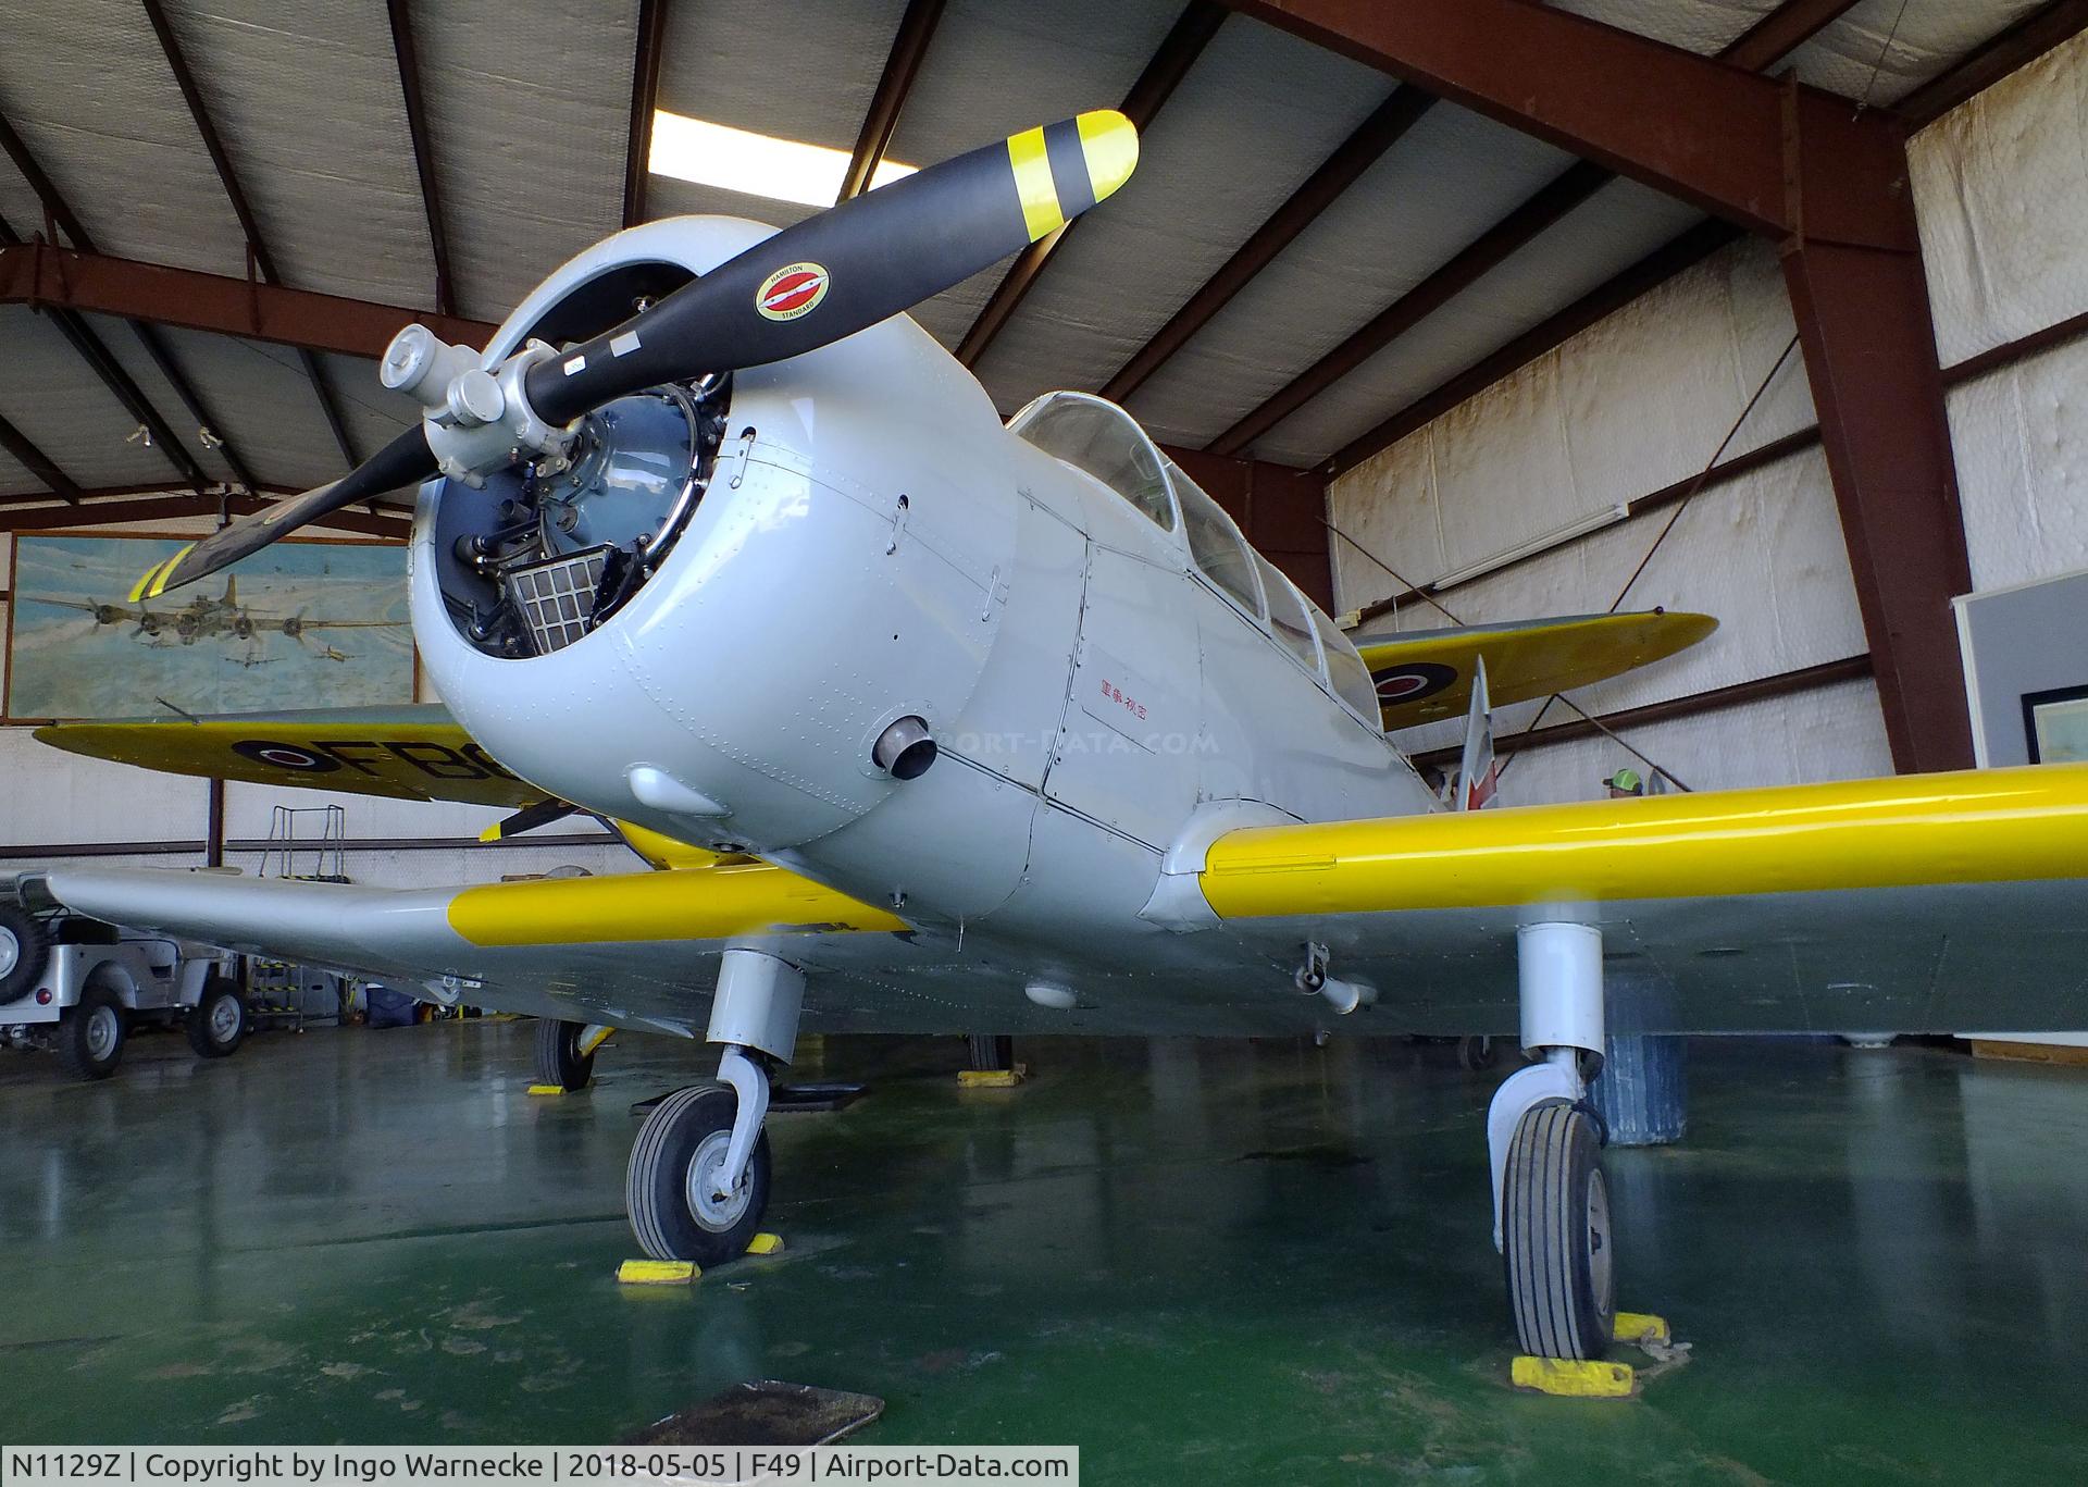
[[[912,309],[1044,238],[1115,192],[1138,129],[1096,111],[1027,129],[854,196],[683,284],[643,315],[528,370],[553,428],[618,397],[781,361]],[[267,547],[328,512],[436,472],[420,426],[345,478],[246,516],[138,581],[148,599]]]

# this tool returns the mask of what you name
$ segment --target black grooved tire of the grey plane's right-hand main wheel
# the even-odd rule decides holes
[[[1524,1111],[1501,1188],[1501,1259],[1522,1351],[1601,1358],[1616,1322],[1616,1243],[1589,1113],[1566,1101]]]

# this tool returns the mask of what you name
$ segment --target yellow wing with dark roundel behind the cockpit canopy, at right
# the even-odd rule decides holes
[[[1378,687],[1384,727],[1409,729],[1464,712],[1480,658],[1493,704],[1503,706],[1650,666],[1714,629],[1708,614],[1643,610],[1351,639]]]

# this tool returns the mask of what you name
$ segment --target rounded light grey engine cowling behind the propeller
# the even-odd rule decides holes
[[[618,234],[484,361],[585,338],[766,232]],[[900,315],[620,399],[580,434],[566,468],[422,487],[416,639],[472,735],[545,792],[714,848],[796,848],[917,789],[879,739],[956,718],[1013,570],[977,382]]]

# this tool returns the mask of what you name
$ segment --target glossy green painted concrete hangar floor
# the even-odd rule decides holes
[[[0,1435],[597,1443],[735,1380],[883,1395],[881,1443],[1077,1443],[1090,1483],[2080,1481],[2088,1071],[1706,1042],[1612,1153],[1622,1293],[1691,1362],[1518,1395],[1487,1238],[1497,1076],[1347,1040],[827,1040],[773,1122],[775,1259],[612,1282],[624,1038],[528,1099],[528,1023],[0,1059]]]

